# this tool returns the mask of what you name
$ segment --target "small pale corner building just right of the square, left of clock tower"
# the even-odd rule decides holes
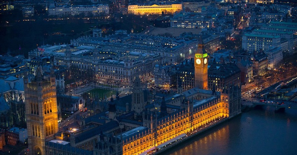
[[[176,84],[176,66],[175,65],[166,65],[160,67],[159,65],[155,66],[155,86],[162,89],[170,89],[175,87]]]

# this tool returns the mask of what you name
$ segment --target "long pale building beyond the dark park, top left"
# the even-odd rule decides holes
[[[79,6],[57,6],[49,7],[49,16],[67,16],[67,15],[106,15],[109,12],[108,4],[97,4],[97,5],[79,5]]]

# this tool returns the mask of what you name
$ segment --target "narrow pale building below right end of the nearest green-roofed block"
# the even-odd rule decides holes
[[[264,52],[268,55],[268,69],[273,69],[282,61],[283,55],[281,47],[274,47]]]

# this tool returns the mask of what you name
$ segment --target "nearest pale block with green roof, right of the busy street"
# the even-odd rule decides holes
[[[266,51],[271,47],[280,47],[280,36],[246,33],[242,36],[242,48],[247,52]]]

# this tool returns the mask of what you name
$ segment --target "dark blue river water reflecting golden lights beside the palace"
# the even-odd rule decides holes
[[[297,110],[244,112],[165,154],[297,154]]]

